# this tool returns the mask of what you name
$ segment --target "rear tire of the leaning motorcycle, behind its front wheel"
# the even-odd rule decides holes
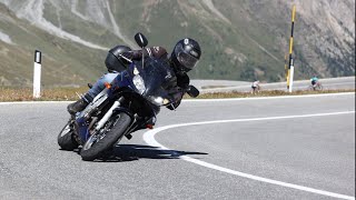
[[[73,121],[69,120],[63,129],[59,132],[57,141],[62,150],[72,151],[78,148],[78,142],[75,139]]]

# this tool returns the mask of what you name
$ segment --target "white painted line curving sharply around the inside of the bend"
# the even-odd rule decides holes
[[[169,150],[169,148],[160,144],[159,142],[157,142],[155,140],[155,134],[157,134],[160,131],[167,130],[167,129],[172,129],[172,128],[178,128],[178,127],[187,127],[187,126],[201,126],[201,124],[208,124],[208,123],[229,123],[229,122],[245,122],[245,121],[281,120],[281,119],[291,119],[291,118],[314,118],[314,117],[349,114],[349,113],[355,113],[355,111],[179,123],[179,124],[165,126],[165,127],[160,127],[160,128],[147,131],[147,132],[144,133],[144,140],[149,146],[159,147],[162,150]],[[227,168],[224,168],[224,167],[219,167],[219,166],[216,166],[216,164],[212,164],[212,163],[208,163],[208,162],[205,162],[205,161],[201,161],[201,160],[197,160],[197,159],[190,158],[188,156],[180,156],[179,158],[182,159],[182,160],[186,160],[188,162],[192,162],[192,163],[206,167],[206,168],[215,169],[215,170],[222,171],[222,172],[230,173],[230,174],[235,174],[235,176],[238,176],[238,177],[244,177],[244,178],[247,178],[247,179],[253,179],[253,180],[257,180],[257,181],[261,181],[261,182],[267,182],[267,183],[277,184],[277,186],[281,186],[281,187],[293,188],[293,189],[303,190],[303,191],[307,191],[307,192],[318,193],[318,194],[322,194],[322,196],[328,196],[328,197],[334,197],[334,198],[355,200],[355,197],[345,196],[345,194],[335,193],[335,192],[329,192],[329,191],[319,190],[319,189],[314,189],[314,188],[308,188],[308,187],[298,186],[298,184],[293,184],[293,183],[283,182],[283,181],[273,180],[273,179],[267,179],[267,178],[263,178],[263,177],[257,177],[257,176],[244,173],[244,172],[240,172],[240,171],[235,171],[235,170],[231,170],[231,169],[227,169]]]

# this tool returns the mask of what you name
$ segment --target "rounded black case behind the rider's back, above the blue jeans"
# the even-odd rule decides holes
[[[122,54],[123,52],[131,51],[131,48],[127,46],[117,46],[109,50],[108,56],[105,60],[105,64],[107,66],[108,70],[120,72],[122,70],[126,70],[127,64],[122,61],[121,57],[119,54]]]

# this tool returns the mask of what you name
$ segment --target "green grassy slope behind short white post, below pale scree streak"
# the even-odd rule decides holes
[[[17,19],[1,4],[2,14],[11,21],[0,20],[0,27],[16,44],[0,41],[1,74],[18,86],[31,83],[33,52],[42,51],[42,84],[82,84],[95,81],[103,68],[105,52],[85,48],[69,40],[44,32],[27,21]],[[88,59],[89,58],[89,59]],[[89,71],[86,73],[86,71]]]

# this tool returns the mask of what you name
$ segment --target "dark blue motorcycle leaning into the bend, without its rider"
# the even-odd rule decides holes
[[[147,39],[137,33],[135,40],[140,48],[147,47]],[[126,137],[140,129],[152,129],[160,107],[172,106],[177,93],[187,92],[196,98],[199,91],[189,86],[184,91],[176,87],[177,77],[165,60],[144,58],[131,61],[127,70],[106,84],[106,88],[85,110],[71,117],[58,134],[58,144],[63,150],[81,146],[85,161],[100,158]]]

